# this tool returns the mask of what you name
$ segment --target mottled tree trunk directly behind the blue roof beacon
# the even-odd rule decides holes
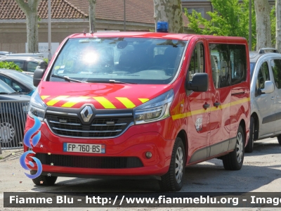
[[[155,31],[158,21],[169,23],[169,32],[183,33],[183,9],[181,0],[153,0]]]

